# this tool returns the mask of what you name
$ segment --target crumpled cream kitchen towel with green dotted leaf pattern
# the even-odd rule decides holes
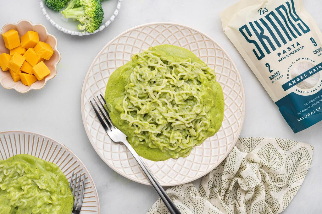
[[[166,192],[183,214],[275,214],[298,192],[311,166],[313,147],[280,138],[239,138],[227,158],[193,184]],[[166,214],[159,199],[149,214]]]

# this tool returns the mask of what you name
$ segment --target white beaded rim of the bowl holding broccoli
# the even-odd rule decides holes
[[[114,19],[118,15],[119,10],[121,9],[121,3],[122,3],[123,0],[118,0],[118,4],[116,6],[116,9],[115,9],[114,13],[111,15],[111,17],[109,17],[109,20],[106,21],[105,23],[102,23],[99,26],[99,29],[97,29],[96,31],[94,31],[92,33],[88,32],[88,31],[84,31],[84,32],[81,32],[81,31],[72,31],[72,30],[69,30],[69,29],[66,29],[66,28],[60,26],[55,21],[53,21],[52,18],[50,17],[50,15],[47,13],[47,9],[46,9],[47,6],[45,6],[43,0],[38,0],[38,1],[39,1],[40,9],[43,11],[43,15],[52,24],[52,26],[56,27],[59,31],[62,31],[62,32],[67,33],[67,34],[71,34],[73,36],[75,36],[75,35],[76,36],[88,36],[90,34],[94,34],[94,33],[97,33],[99,31],[102,31],[104,28],[108,27],[111,22],[114,21]]]

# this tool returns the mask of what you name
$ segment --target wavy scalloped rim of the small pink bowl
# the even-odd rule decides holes
[[[61,53],[59,52],[59,50],[57,49],[57,43],[58,43],[58,42],[57,42],[57,38],[56,38],[54,35],[50,34],[50,33],[48,32],[47,28],[46,28],[43,24],[40,24],[40,23],[33,24],[31,21],[29,21],[29,20],[27,20],[27,19],[22,19],[22,20],[18,21],[17,23],[9,22],[9,23],[6,23],[6,24],[2,27],[0,34],[1,34],[1,35],[3,34],[3,30],[4,30],[4,28],[5,28],[7,25],[10,25],[10,24],[11,24],[11,25],[18,26],[18,24],[19,24],[20,22],[28,22],[28,23],[29,23],[30,25],[32,25],[32,26],[37,26],[37,25],[42,26],[42,27],[45,29],[46,36],[47,36],[47,37],[48,37],[48,36],[51,36],[51,37],[55,40],[55,47],[53,48],[53,50],[54,50],[54,51],[57,51],[57,53],[58,53],[58,60],[57,60],[57,62],[55,62],[55,63],[53,64],[53,66],[54,66],[54,68],[55,68],[55,70],[54,70],[54,76],[52,76],[52,77],[50,77],[50,78],[45,79],[44,84],[43,84],[40,88],[32,88],[32,87],[31,87],[31,85],[30,85],[30,86],[28,87],[28,90],[26,90],[26,91],[20,91],[20,90],[18,90],[18,89],[17,89],[16,85],[14,85],[14,86],[12,86],[12,87],[7,87],[7,86],[5,86],[5,84],[4,84],[4,83],[3,83],[3,81],[2,81],[2,78],[0,79],[0,83],[1,83],[1,85],[2,85],[5,89],[14,89],[14,90],[16,90],[17,92],[19,92],[19,93],[21,93],[21,94],[25,94],[25,93],[27,93],[27,92],[29,92],[29,91],[31,91],[31,90],[40,90],[40,89],[43,89],[43,87],[45,87],[45,85],[47,84],[48,80],[53,79],[53,78],[57,75],[57,65],[58,65],[58,63],[60,62],[60,60],[61,60],[61,58],[62,58],[62,55],[61,55]],[[2,70],[1,70],[1,71],[2,71]],[[2,72],[5,72],[5,71],[2,71]]]

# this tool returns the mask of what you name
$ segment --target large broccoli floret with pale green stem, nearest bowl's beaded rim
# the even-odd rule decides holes
[[[104,11],[99,0],[71,0],[62,15],[67,19],[77,19],[79,30],[92,33],[101,25]]]

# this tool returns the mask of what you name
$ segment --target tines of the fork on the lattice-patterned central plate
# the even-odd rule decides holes
[[[106,100],[104,99],[103,95],[102,94],[99,94],[99,95],[100,95],[101,99],[104,101],[106,108],[108,109],[107,104],[106,104]],[[103,116],[103,118],[104,118],[105,121],[103,120],[103,118],[99,114],[99,111],[97,111],[97,108],[95,107],[95,105],[93,104],[92,101],[90,101],[90,104],[92,105],[92,107],[93,107],[93,109],[95,111],[95,114],[97,115],[97,117],[99,119],[99,122],[102,124],[103,128],[105,129],[105,131],[109,131],[109,130],[115,129],[115,127],[112,124],[111,119],[109,117],[109,112],[106,110],[106,108],[105,108],[104,104],[101,102],[99,96],[96,96],[96,98],[99,101],[99,103],[102,106],[102,108],[99,107],[99,104],[98,104],[98,102],[96,101],[95,98],[93,98],[93,100],[94,100],[97,108],[99,109],[99,111],[102,114],[102,116]],[[102,109],[104,109],[104,111]]]

